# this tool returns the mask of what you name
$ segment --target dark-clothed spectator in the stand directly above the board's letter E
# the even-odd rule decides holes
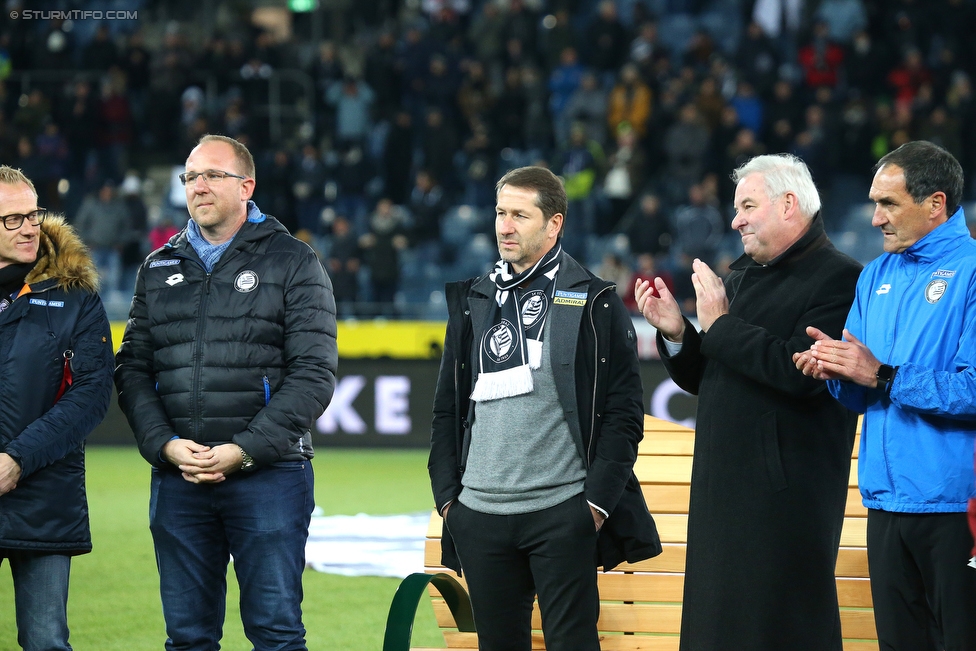
[[[400,252],[406,250],[406,211],[389,199],[380,199],[369,219],[369,232],[359,245],[369,265],[371,300],[379,314],[393,316],[393,301],[400,288]]]

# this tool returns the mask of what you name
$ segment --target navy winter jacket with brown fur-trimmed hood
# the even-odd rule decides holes
[[[98,273],[60,218],[41,226],[26,282],[30,292],[0,312],[0,451],[22,470],[0,496],[0,548],[83,554],[91,551],[84,443],[112,397],[112,335]],[[74,383],[55,403],[65,351]]]

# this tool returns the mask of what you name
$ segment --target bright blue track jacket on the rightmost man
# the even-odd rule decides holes
[[[976,240],[962,208],[903,253],[864,268],[847,329],[882,364],[899,367],[890,398],[828,382],[835,398],[864,414],[864,506],[965,512],[976,494]]]

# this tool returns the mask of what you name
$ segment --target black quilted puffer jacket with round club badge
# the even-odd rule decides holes
[[[211,273],[185,229],[139,269],[115,381],[157,467],[172,468],[160,451],[174,436],[233,441],[259,467],[312,457],[338,364],[332,283],[308,245],[259,219]]]

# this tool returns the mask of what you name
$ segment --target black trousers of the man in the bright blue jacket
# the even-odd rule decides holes
[[[976,570],[965,513],[868,510],[881,651],[976,651]]]

